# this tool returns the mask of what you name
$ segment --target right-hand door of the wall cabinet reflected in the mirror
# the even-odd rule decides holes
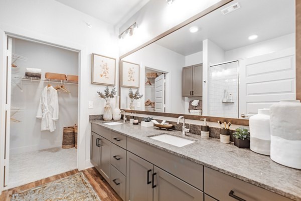
[[[192,96],[203,96],[203,64],[193,66]]]

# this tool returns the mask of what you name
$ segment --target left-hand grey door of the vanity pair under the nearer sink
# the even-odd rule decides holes
[[[142,158],[126,153],[126,200],[153,201],[152,163]]]

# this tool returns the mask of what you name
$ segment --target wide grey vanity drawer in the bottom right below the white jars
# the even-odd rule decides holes
[[[204,192],[223,201],[239,200],[238,197],[247,201],[291,200],[208,167],[204,167]]]

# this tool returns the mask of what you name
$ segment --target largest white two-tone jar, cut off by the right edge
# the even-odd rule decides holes
[[[301,169],[301,103],[283,100],[270,107],[271,159]]]

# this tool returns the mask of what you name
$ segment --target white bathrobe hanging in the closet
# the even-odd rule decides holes
[[[55,131],[55,121],[59,119],[58,92],[52,86],[45,87],[42,91],[37,118],[41,120],[41,131]]]

